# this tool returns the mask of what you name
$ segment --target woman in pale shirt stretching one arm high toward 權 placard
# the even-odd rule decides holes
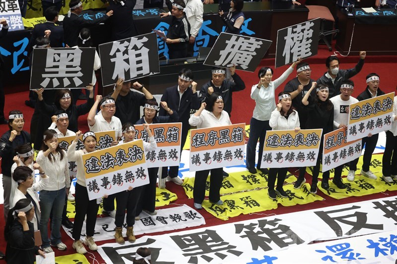
[[[267,174],[266,168],[261,168],[261,158],[264,149],[266,131],[271,130],[269,126],[270,113],[276,108],[274,100],[274,91],[281,85],[294,70],[295,65],[302,59],[292,63],[290,67],[276,80],[272,81],[273,70],[269,67],[262,67],[259,70],[259,83],[251,88],[251,98],[255,100],[254,113],[250,122],[250,138],[247,143],[247,169],[250,173],[255,174],[255,154],[257,142],[259,139],[259,156],[257,168]]]

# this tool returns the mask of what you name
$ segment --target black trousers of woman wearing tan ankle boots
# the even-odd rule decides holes
[[[136,206],[138,204],[142,186],[133,188],[131,191],[123,191],[116,194],[116,227],[123,227],[124,217],[127,210],[127,226],[133,226],[135,223]]]

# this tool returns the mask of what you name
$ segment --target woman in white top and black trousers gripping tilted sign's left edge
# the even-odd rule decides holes
[[[84,149],[76,150],[77,142],[80,136],[81,131],[77,131],[76,138],[67,149],[67,158],[70,161],[75,161],[77,164],[77,182],[74,194],[76,214],[74,216],[73,223],[72,237],[74,239],[74,242],[72,248],[75,249],[76,252],[79,254],[85,254],[87,253],[87,250],[80,240],[81,228],[83,227],[84,218],[85,216],[87,216],[86,237],[84,239],[84,244],[87,245],[90,250],[98,250],[98,246],[95,244],[94,238],[92,236],[94,235],[96,216],[98,214],[98,208],[101,202],[98,201],[98,199],[90,201],[88,198],[87,185],[85,184],[84,164],[82,158],[83,154],[95,151],[96,136],[94,132],[85,132],[83,135]]]

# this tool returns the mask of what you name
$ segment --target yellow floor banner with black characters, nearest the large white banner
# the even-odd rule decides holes
[[[284,186],[289,198],[279,198],[275,201],[267,196],[267,189],[254,190],[249,192],[239,192],[221,197],[222,206],[210,203],[204,200],[202,207],[210,214],[221,220],[228,220],[240,214],[249,214],[260,211],[276,209],[278,204],[282,206],[294,206],[313,203],[315,201],[324,200],[321,196],[311,194],[309,184],[305,184],[301,189],[295,190],[292,184]]]

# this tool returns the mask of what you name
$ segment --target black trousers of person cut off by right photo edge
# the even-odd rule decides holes
[[[382,173],[385,176],[397,175],[397,136],[386,131],[386,147],[382,158]]]

